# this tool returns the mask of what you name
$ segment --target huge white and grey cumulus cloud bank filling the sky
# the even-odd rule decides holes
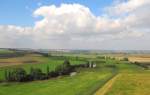
[[[149,6],[149,0],[115,3],[102,14],[106,17],[95,16],[80,4],[41,6],[33,13],[34,17],[42,17],[34,27],[1,25],[0,44],[6,47],[107,49],[108,45],[103,42],[108,42],[110,47],[116,40],[127,41],[127,46],[129,39],[146,42],[148,39],[143,38],[149,37]]]

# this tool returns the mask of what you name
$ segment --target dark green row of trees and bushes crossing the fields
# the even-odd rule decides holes
[[[46,72],[42,72],[39,68],[32,68],[30,72],[27,73],[23,68],[15,68],[13,70],[5,70],[5,79],[9,82],[27,82],[34,80],[46,80],[53,77],[58,77],[62,75],[69,75],[74,72],[78,67],[89,67],[89,62],[79,65],[71,65],[68,60],[65,60],[62,65],[56,67],[54,71],[50,71],[49,66],[47,66]]]

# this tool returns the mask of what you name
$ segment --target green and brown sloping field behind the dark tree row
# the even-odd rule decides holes
[[[43,72],[46,72],[46,67],[49,66],[49,69],[52,71],[56,68],[56,66],[62,64],[64,59],[56,60],[50,57],[43,57],[43,56],[23,56],[23,57],[15,57],[15,58],[8,58],[8,59],[0,59],[2,61],[7,62],[14,62],[13,65],[10,63],[8,66],[0,67],[0,80],[4,79],[4,72],[5,70],[11,70],[12,68],[24,68],[27,72],[30,71],[31,67],[33,68],[40,68]],[[35,63],[27,63],[28,61],[35,61]],[[16,62],[16,63],[15,63]],[[24,63],[25,62],[25,63]],[[84,63],[83,61],[77,60],[70,60],[71,64],[81,64]]]

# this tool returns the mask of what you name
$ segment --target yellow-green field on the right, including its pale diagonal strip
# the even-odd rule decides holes
[[[115,66],[118,74],[98,89],[94,95],[149,95],[149,70],[144,70],[143,67],[127,61],[109,59],[106,61],[105,66],[109,65]]]

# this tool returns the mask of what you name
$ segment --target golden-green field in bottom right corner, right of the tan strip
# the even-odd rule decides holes
[[[150,73],[120,74],[106,95],[149,95]]]

